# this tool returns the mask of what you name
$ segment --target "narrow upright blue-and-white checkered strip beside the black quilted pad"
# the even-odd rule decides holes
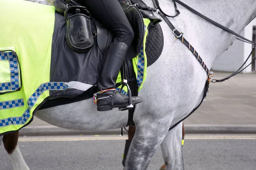
[[[144,57],[144,47],[142,46],[140,48],[140,53],[139,53],[139,57],[138,57],[138,63],[137,63],[137,67],[138,67],[138,72],[137,72],[137,84],[138,84],[138,88],[140,88],[140,85],[143,82],[143,76],[144,76],[144,67],[145,67],[145,57]]]

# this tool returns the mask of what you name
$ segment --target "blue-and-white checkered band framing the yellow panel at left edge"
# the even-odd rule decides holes
[[[1,91],[17,91],[20,88],[18,58],[14,51],[0,52],[0,61],[9,61],[11,82],[0,83]]]

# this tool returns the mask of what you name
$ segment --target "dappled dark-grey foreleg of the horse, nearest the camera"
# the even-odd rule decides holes
[[[128,150],[125,170],[145,170],[148,167],[151,157],[168,131],[169,122],[166,120],[143,119],[141,124],[136,124],[136,133]]]

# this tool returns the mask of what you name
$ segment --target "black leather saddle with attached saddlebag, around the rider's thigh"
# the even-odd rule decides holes
[[[140,52],[145,34],[143,16],[139,9],[132,6],[129,0],[119,0],[135,33],[134,40],[126,55],[126,60],[132,59]],[[76,0],[55,0],[55,10],[64,15],[67,23],[66,40],[68,46],[76,52],[87,52],[91,49],[96,37],[102,54],[112,41],[111,32],[90,16],[90,11]],[[91,31],[91,22],[97,30]]]

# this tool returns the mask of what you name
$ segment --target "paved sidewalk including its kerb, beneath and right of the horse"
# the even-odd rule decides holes
[[[215,72],[214,79],[229,73]],[[256,133],[256,74],[238,74],[221,83],[211,83],[206,101],[185,121],[188,133]],[[36,118],[20,130],[21,135],[69,134],[70,130],[49,125]],[[92,132],[76,132],[94,134]],[[120,130],[95,134],[120,134]]]

